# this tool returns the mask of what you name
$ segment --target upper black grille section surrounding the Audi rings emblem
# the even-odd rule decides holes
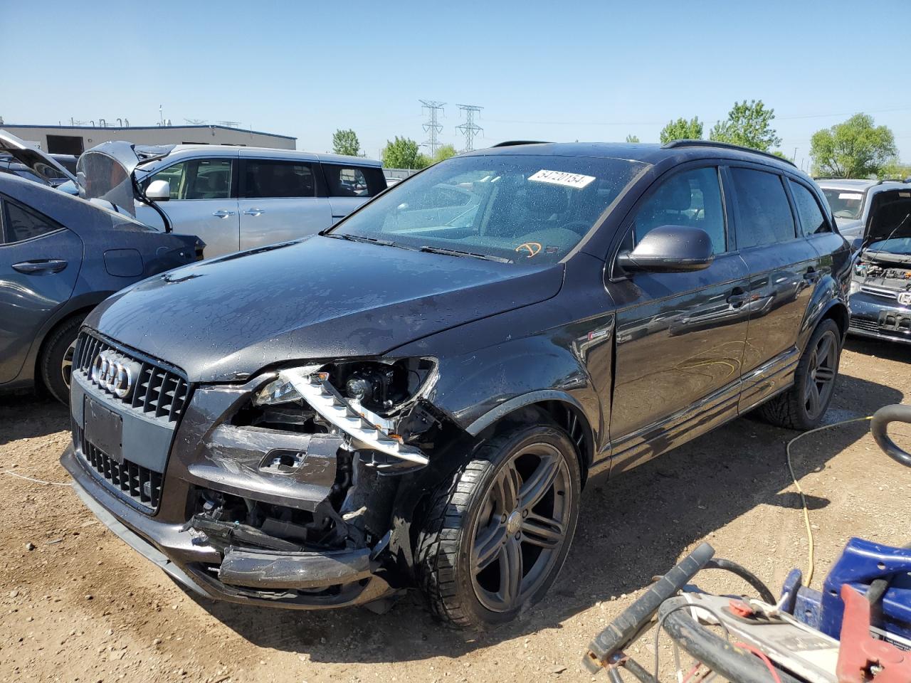
[[[125,352],[93,334],[82,332],[73,361],[73,372],[82,372],[83,377],[91,382],[92,363],[100,352],[108,349],[141,363],[136,388],[123,399],[113,394],[110,394],[109,398],[128,405],[139,413],[152,414],[168,422],[177,422],[187,405],[189,383],[175,368],[168,368],[151,359]]]

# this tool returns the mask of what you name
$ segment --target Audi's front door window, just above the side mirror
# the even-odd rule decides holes
[[[709,233],[716,254],[727,250],[718,169],[695,168],[664,180],[634,219],[636,242],[662,225],[685,225]]]

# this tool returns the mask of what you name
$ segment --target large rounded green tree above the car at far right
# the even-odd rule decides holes
[[[896,137],[873,125],[869,114],[855,114],[844,123],[817,130],[810,138],[814,174],[834,178],[870,178],[884,173],[896,160]]]

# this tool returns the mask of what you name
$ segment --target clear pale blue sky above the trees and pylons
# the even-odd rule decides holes
[[[881,20],[886,6],[901,10],[896,21]],[[394,136],[426,139],[419,99],[445,102],[439,139],[458,149],[459,104],[484,107],[479,148],[652,142],[670,119],[693,116],[707,137],[735,101],[762,99],[798,165],[809,166],[814,131],[859,111],[892,128],[911,162],[899,20],[911,7],[875,7],[874,20],[836,0],[0,0],[0,117],[150,126],[161,106],[175,125],[239,121],[316,152],[353,128],[378,157]]]

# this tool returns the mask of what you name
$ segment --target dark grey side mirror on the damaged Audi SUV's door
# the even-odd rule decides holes
[[[617,255],[623,270],[689,272],[704,270],[715,260],[709,233],[701,228],[662,225],[650,230],[636,249]]]

